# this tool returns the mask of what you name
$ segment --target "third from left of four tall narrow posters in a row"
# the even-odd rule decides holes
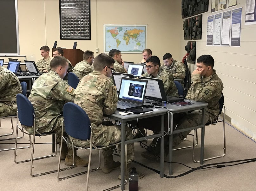
[[[229,46],[231,11],[222,13],[221,46]]]

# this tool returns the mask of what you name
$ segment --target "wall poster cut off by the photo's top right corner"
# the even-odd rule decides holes
[[[246,0],[245,25],[256,24],[256,4],[255,0]]]

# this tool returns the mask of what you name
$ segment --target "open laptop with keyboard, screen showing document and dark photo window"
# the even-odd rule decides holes
[[[147,84],[147,80],[122,77],[117,110],[124,111],[131,108],[141,108],[143,106]]]

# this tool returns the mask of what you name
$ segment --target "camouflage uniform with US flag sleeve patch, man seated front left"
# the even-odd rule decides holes
[[[36,130],[41,133],[61,132],[62,108],[66,102],[73,102],[74,91],[53,70],[34,82],[29,100],[35,110]],[[32,127],[24,127],[29,133],[33,133]],[[57,134],[57,138],[60,141],[61,134]]]

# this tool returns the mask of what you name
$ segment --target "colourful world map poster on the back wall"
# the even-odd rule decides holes
[[[104,25],[104,52],[140,53],[147,47],[147,25]]]

